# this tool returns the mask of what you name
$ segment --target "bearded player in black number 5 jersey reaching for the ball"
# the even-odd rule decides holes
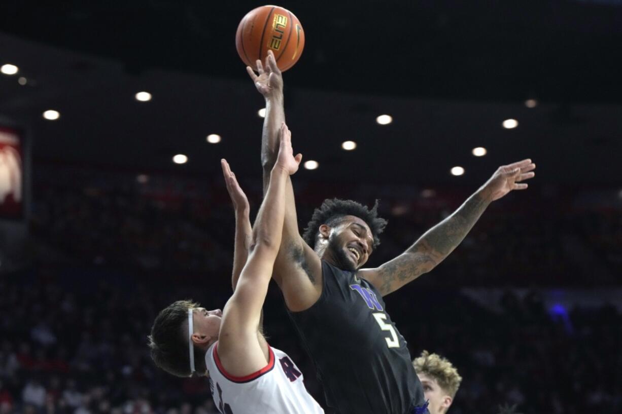
[[[283,80],[274,55],[247,71],[266,99],[261,162],[264,186],[278,154],[285,120]],[[376,269],[361,269],[379,244],[386,221],[351,200],[326,200],[303,236],[287,179],[281,250],[273,277],[307,351],[328,406],[338,414],[428,413],[424,391],[404,338],[383,297],[434,269],[464,239],[486,207],[524,190],[536,165],[522,160],[499,167],[460,208],[425,232],[404,253]]]

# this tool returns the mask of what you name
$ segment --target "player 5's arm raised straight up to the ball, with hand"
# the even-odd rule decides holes
[[[257,68],[257,74],[251,67],[247,67],[246,71],[259,93],[266,99],[266,117],[261,142],[265,193],[272,165],[276,162],[276,155],[279,152],[279,127],[285,122],[283,78],[271,50],[268,51],[265,65],[258,60]],[[322,263],[300,236],[294,189],[289,178],[285,188],[285,223],[281,251],[274,265],[273,276],[290,310],[309,308],[322,293]]]

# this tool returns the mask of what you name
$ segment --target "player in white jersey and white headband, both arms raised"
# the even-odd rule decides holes
[[[246,196],[228,163],[221,162],[236,208],[234,292],[223,311],[176,301],[160,311],[149,336],[157,366],[179,377],[207,375],[216,407],[223,414],[323,413],[305,389],[294,362],[269,346],[261,334],[261,308],[281,245],[285,182],[302,159],[300,154],[294,157],[284,123],[280,141],[278,160],[252,230]]]

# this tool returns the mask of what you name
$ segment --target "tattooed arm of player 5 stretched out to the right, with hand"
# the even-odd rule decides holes
[[[451,216],[429,229],[404,253],[377,269],[359,270],[383,295],[434,269],[466,237],[486,207],[512,190],[527,188],[524,180],[534,177],[531,160],[503,165]]]

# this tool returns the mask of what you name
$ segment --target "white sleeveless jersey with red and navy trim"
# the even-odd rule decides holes
[[[271,346],[268,349],[267,366],[246,377],[235,377],[220,363],[218,343],[210,346],[205,366],[216,408],[223,414],[323,414],[290,357]]]

